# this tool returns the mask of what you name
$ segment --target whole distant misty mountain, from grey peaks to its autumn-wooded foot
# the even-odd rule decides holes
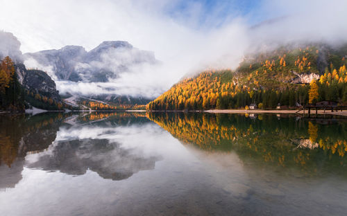
[[[58,50],[25,53],[24,60],[29,66],[46,69],[57,81],[58,87],[62,87],[62,95],[67,98],[74,96],[81,106],[89,101],[83,98],[101,100],[115,107],[146,105],[153,100],[143,97],[141,92],[138,96],[117,93],[121,87],[107,83],[115,82],[122,73],[133,73],[141,70],[142,66],[158,63],[154,53],[141,51],[128,42],[102,42],[90,51],[82,46],[65,46]],[[78,84],[87,83],[85,86],[89,86],[91,82],[99,91],[84,93],[83,89],[78,88]]]

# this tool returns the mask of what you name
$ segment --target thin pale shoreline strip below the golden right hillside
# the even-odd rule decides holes
[[[304,114],[303,110],[264,110],[264,109],[209,109],[205,110],[203,112],[211,113],[211,114]],[[305,111],[305,114],[307,114],[308,111]],[[326,114],[326,115],[334,115],[334,116],[347,116],[347,110],[339,110],[339,111],[331,111],[331,110],[318,110],[318,114]],[[311,115],[315,115],[316,111],[311,110]]]

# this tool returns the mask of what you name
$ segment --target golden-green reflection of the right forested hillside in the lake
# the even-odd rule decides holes
[[[252,161],[252,166],[271,164],[320,175],[347,173],[344,119],[182,113],[149,113],[148,118],[183,143],[209,152],[235,151],[245,163]]]

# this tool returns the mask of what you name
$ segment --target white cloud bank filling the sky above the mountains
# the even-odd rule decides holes
[[[237,9],[230,9],[230,15],[221,18],[219,12],[226,7],[223,4],[210,15],[204,15],[201,3],[188,4],[185,10],[167,15],[178,2],[3,1],[0,28],[18,37],[23,52],[68,44],[91,49],[105,40],[125,40],[142,50],[153,51],[162,62],[160,66],[137,68],[135,73],[123,74],[109,83],[119,87],[119,92],[153,96],[192,71],[208,66],[233,68],[246,51],[264,42],[271,45],[298,39],[347,39],[347,1],[265,0],[259,8],[252,9],[256,14],[253,17],[284,18],[257,28],[248,24],[252,14],[241,17]],[[201,16],[207,16],[202,24]],[[62,83],[58,84],[60,91],[82,86]],[[90,90],[94,92],[102,89],[98,84],[83,85],[95,87]]]

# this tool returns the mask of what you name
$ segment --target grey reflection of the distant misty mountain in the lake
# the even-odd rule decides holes
[[[127,179],[139,170],[153,170],[158,157],[133,154],[107,139],[62,141],[48,154],[42,154],[28,168],[59,170],[66,174],[85,174],[89,169],[104,179]]]

